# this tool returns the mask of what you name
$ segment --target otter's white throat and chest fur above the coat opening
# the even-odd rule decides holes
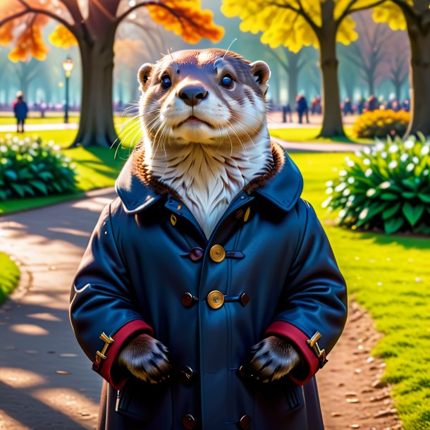
[[[192,143],[145,151],[149,172],[180,196],[207,238],[235,196],[272,163],[270,142],[240,149]]]

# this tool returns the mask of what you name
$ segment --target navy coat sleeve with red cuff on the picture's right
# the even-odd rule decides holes
[[[300,239],[278,312],[266,336],[283,336],[302,353],[305,371],[290,375],[302,385],[324,366],[325,355],[343,331],[348,306],[345,280],[314,209],[300,199],[296,210]],[[317,332],[321,338],[311,346]],[[323,349],[325,355],[320,353]]]

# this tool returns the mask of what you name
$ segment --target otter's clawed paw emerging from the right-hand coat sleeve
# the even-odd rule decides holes
[[[293,345],[283,338],[269,336],[252,347],[247,373],[258,381],[271,382],[287,375],[301,363],[302,357]]]

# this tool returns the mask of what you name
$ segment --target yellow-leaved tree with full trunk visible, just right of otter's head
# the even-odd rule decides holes
[[[239,16],[240,30],[262,32],[270,47],[284,45],[297,52],[319,48],[324,116],[321,137],[345,135],[340,113],[336,42],[350,44],[358,35],[351,14],[386,0],[223,0],[226,16]]]

